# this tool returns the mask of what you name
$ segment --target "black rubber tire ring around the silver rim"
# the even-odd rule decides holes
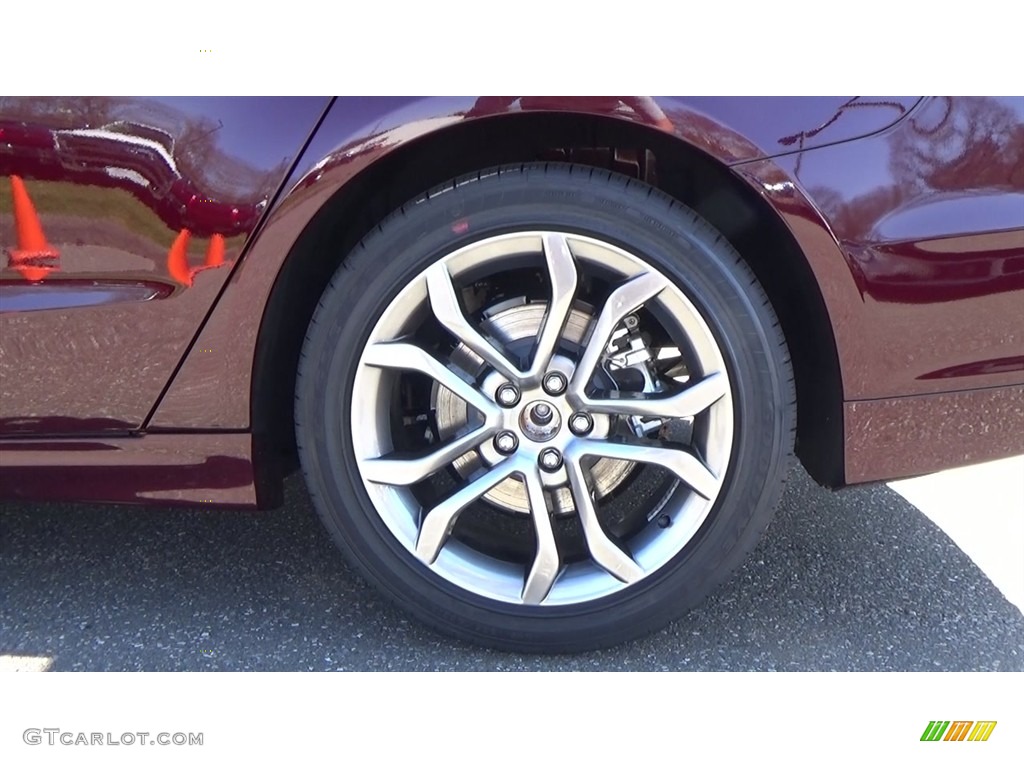
[[[640,254],[681,289],[707,322],[728,371],[732,443],[717,501],[666,564],[598,599],[515,605],[454,585],[392,535],[360,477],[347,409],[364,346],[411,280],[467,243],[547,228]],[[295,420],[315,507],[345,557],[373,585],[454,637],[516,651],[566,652],[664,627],[742,560],[767,528],[792,463],[796,392],[765,293],[711,225],[642,182],[587,167],[538,164],[437,187],[390,215],[346,256],[309,325]]]

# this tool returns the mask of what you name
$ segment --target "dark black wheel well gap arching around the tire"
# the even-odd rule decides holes
[[[411,141],[339,189],[274,283],[256,347],[253,431],[296,466],[295,374],[316,301],[345,255],[411,199],[482,168],[573,162],[642,179],[695,210],[742,255],[775,308],[797,380],[797,454],[818,482],[843,484],[842,381],[824,301],[779,216],[728,168],[689,144],[607,118],[534,113],[468,121]]]

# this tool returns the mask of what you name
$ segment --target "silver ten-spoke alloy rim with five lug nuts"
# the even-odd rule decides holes
[[[517,337],[503,338],[495,318],[513,310]],[[540,606],[616,594],[680,555],[733,441],[726,365],[683,291],[649,260],[558,231],[487,238],[416,275],[371,330],[349,416],[364,487],[401,547],[475,596]],[[651,477],[656,498],[631,509]],[[612,506],[628,531],[611,532]],[[505,534],[502,515],[529,524]],[[486,546],[462,530],[471,517],[498,521]]]

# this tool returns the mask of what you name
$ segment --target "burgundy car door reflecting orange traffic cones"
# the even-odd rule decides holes
[[[143,425],[329,103],[0,98],[0,435]]]

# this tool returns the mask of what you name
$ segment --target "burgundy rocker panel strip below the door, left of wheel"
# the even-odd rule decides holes
[[[247,434],[0,440],[0,498],[256,506]]]

